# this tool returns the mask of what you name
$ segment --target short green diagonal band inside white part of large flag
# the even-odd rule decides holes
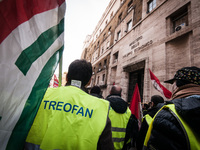
[[[64,18],[60,23],[44,33],[28,48],[26,48],[15,62],[21,72],[26,75],[32,63],[38,59],[64,31]]]

